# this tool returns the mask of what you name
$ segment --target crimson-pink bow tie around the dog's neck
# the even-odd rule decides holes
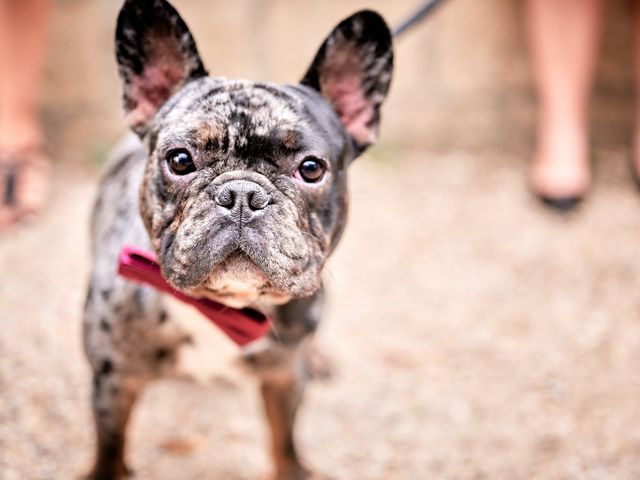
[[[145,250],[125,245],[120,251],[118,273],[195,307],[239,346],[263,337],[269,330],[269,318],[257,310],[231,308],[209,298],[192,297],[176,290],[162,276],[155,255]]]

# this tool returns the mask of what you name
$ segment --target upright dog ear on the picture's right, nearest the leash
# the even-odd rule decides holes
[[[362,10],[331,32],[301,83],[331,103],[357,147],[364,150],[378,137],[380,105],[392,69],[389,27],[376,12]]]

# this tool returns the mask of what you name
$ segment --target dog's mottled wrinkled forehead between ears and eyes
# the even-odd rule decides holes
[[[161,109],[156,132],[165,143],[187,141],[238,157],[339,153],[348,140],[310,89],[210,77],[189,83]]]

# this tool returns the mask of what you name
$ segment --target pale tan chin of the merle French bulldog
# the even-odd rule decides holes
[[[291,299],[291,295],[273,288],[264,271],[241,252],[232,253],[216,265],[190,293],[233,308],[281,305]]]

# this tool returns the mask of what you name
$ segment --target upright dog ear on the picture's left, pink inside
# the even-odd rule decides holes
[[[125,0],[116,58],[127,123],[140,136],[173,93],[207,75],[189,28],[165,0]]]

